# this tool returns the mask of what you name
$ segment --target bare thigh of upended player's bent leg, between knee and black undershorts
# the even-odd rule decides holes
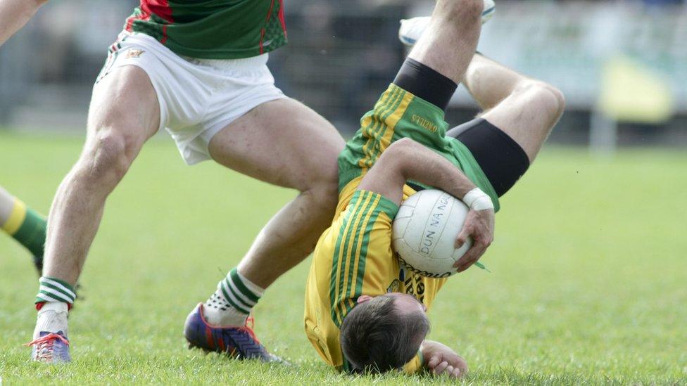
[[[482,118],[515,140],[534,161],[563,110],[560,91],[536,81],[525,81]]]

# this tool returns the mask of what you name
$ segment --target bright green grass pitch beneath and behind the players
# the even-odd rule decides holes
[[[46,212],[81,144],[1,134],[0,185]],[[605,160],[548,148],[502,200],[482,260],[493,273],[449,281],[430,337],[465,356],[468,383],[687,385],[686,191],[685,151]],[[294,195],[211,162],[187,167],[170,140],[154,139],[108,200],[82,276],[85,300],[70,313],[68,366],[28,360],[21,345],[34,326],[37,276],[25,250],[0,236],[0,383],[430,382],[324,366],[302,326],[310,259],[256,307],[258,336],[294,366],[186,348],[187,313]]]

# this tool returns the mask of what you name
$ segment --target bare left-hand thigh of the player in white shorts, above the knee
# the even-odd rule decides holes
[[[93,88],[84,150],[115,146],[133,158],[160,126],[160,104],[140,67],[118,67]]]

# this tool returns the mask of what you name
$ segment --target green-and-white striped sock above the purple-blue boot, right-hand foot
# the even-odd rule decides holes
[[[206,321],[213,326],[243,326],[264,292],[264,288],[249,281],[234,268],[218,283],[217,290],[205,303]]]

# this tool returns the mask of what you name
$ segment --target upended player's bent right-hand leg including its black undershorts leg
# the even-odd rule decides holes
[[[555,87],[479,54],[463,84],[484,112],[447,135],[469,148],[496,193],[503,195],[534,161],[563,113],[564,98]]]

